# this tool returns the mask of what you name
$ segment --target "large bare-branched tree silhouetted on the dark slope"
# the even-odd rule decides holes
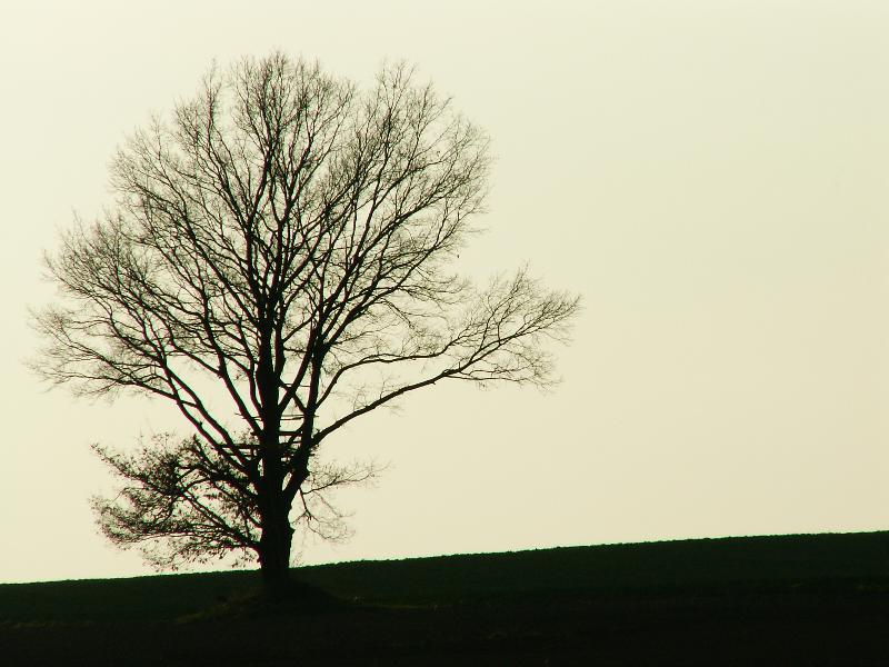
[[[98,448],[120,546],[160,565],[237,552],[288,578],[293,526],[336,535],[318,456],[341,427],[442,380],[546,386],[576,297],[526,270],[449,268],[475,231],[488,139],[404,66],[369,90],[274,53],[206,77],[111,165],[116,205],[47,258],[33,366],[77,392],[176,405],[191,435]],[[541,232],[542,233],[542,232]]]

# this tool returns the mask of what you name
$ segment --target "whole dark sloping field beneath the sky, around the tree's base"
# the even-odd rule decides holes
[[[0,586],[0,665],[889,665],[889,532]]]

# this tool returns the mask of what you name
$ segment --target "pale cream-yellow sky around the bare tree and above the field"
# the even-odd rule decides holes
[[[497,156],[468,266],[585,306],[556,390],[436,387],[334,440],[390,468],[302,563],[889,528],[887,33],[883,0],[4,3],[0,581],[150,571],[94,527],[89,445],[184,425],[47,392],[28,308],[126,135],[272,49],[451,93]]]

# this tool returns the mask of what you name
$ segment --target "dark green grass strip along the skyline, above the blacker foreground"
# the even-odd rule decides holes
[[[696,539],[359,561],[297,576],[387,607],[547,598],[646,599],[889,590],[889,532]],[[0,578],[2,573],[0,573]],[[258,573],[0,585],[0,626],[167,620],[248,596]]]

